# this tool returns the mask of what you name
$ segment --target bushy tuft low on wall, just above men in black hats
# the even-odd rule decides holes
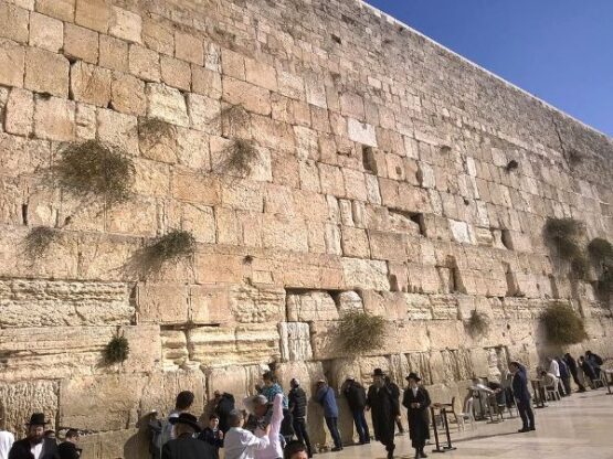
[[[338,340],[342,351],[362,353],[379,349],[385,339],[385,320],[367,312],[347,312],[340,320]]]

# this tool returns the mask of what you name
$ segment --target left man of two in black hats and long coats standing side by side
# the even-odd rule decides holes
[[[372,416],[374,438],[388,451],[388,459],[394,456],[395,423],[400,417],[400,402],[393,387],[385,382],[385,374],[381,369],[372,373],[372,385],[368,388],[366,408]]]

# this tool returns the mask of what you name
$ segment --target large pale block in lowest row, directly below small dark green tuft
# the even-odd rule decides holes
[[[91,430],[120,430],[136,425],[147,378],[141,374],[63,380],[59,421]]]

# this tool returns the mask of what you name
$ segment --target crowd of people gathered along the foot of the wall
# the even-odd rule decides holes
[[[603,360],[590,351],[575,361],[570,354],[548,357],[547,366],[537,369],[538,380],[530,380],[528,370],[519,362],[509,363],[509,373],[500,382],[482,383],[473,380],[471,391],[485,391],[495,395],[500,405],[515,404],[522,426],[519,433],[536,430],[532,410],[532,394],[529,383],[537,381],[542,394],[571,395],[571,378],[579,392],[585,392],[585,382],[598,388]],[[175,408],[167,418],[159,419],[157,413],[149,416],[150,455],[152,459],[219,459],[223,448],[225,459],[307,459],[315,453],[307,428],[307,395],[296,378],[290,389],[284,393],[273,372],[263,375],[263,384],[256,386],[257,395],[243,401],[244,409],[236,408],[232,394],[216,391],[212,412],[205,425],[190,413],[194,394],[190,391],[177,395]],[[381,442],[388,459],[394,457],[397,427],[402,427],[402,407],[406,409],[409,436],[415,458],[426,458],[424,451],[430,440],[430,407],[432,401],[420,376],[410,373],[406,387],[401,394],[381,369],[372,374],[368,389],[355,377],[348,377],[340,393],[346,397],[351,412],[359,444],[371,441],[371,431],[366,413],[370,412],[373,438]],[[326,426],[334,447],[344,449],[338,428],[339,408],[337,394],[325,380],[319,380],[314,399],[321,405]],[[1,419],[0,419],[1,420]],[[57,445],[54,430],[45,430],[49,421],[41,413],[34,413],[27,423],[27,437],[14,441],[12,434],[0,430],[0,459],[78,459],[80,433],[67,429],[64,441]]]

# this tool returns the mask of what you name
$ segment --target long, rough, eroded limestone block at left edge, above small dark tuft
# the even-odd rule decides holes
[[[129,291],[120,282],[0,280],[0,327],[129,324]]]

